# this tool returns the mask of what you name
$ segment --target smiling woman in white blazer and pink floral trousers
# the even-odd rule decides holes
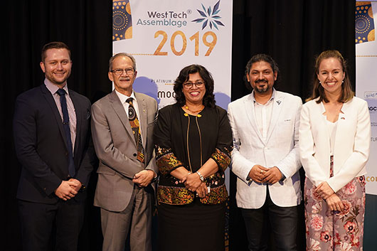
[[[368,105],[354,97],[339,51],[321,53],[315,72],[299,127],[307,250],[362,250]]]

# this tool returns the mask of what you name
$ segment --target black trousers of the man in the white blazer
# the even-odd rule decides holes
[[[248,235],[248,250],[267,250],[269,240],[268,225],[275,240],[275,250],[297,250],[297,206],[280,207],[270,198],[267,188],[265,204],[262,208],[241,208]]]

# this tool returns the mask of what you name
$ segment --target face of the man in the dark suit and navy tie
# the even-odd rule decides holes
[[[40,63],[46,78],[58,87],[63,87],[70,76],[72,61],[65,48],[46,50],[46,58]]]

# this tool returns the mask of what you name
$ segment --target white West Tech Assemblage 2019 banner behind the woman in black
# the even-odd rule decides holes
[[[232,8],[230,0],[114,0],[113,53],[137,61],[134,90],[159,108],[175,102],[174,80],[187,65],[203,65],[215,80],[216,104],[230,102]]]

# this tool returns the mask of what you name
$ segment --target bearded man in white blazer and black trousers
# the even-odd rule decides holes
[[[246,65],[246,85],[253,92],[231,102],[231,169],[237,178],[249,250],[267,250],[267,224],[276,250],[297,250],[297,205],[301,202],[298,132],[302,100],[273,87],[279,69],[265,54]]]

